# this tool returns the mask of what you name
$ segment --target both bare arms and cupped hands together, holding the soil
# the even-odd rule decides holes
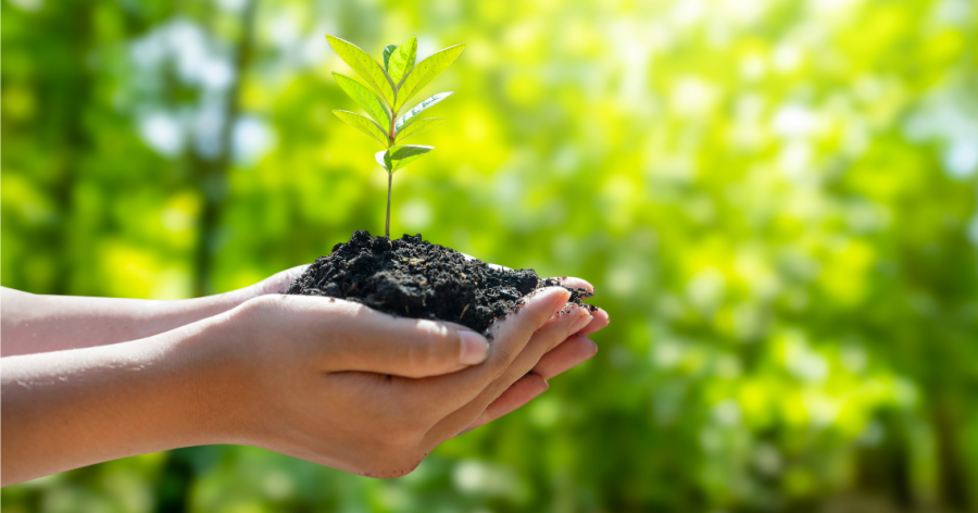
[[[278,293],[301,272],[184,301],[3,288],[2,484],[212,443],[401,476],[546,391],[607,324],[551,287],[487,343],[451,323]]]

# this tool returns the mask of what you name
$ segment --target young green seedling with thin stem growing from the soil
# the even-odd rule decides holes
[[[444,121],[441,117],[418,117],[418,114],[448,98],[451,91],[432,95],[403,115],[401,111],[408,101],[455,62],[462,50],[465,50],[465,45],[454,45],[439,50],[415,64],[417,38],[411,36],[401,46],[388,45],[384,49],[384,65],[380,65],[356,45],[333,36],[326,36],[326,39],[339,57],[369,86],[367,88],[352,78],[334,73],[333,76],[336,77],[340,88],[362,107],[369,117],[340,110],[333,113],[343,123],[387,147],[386,150],[378,151],[374,159],[387,170],[387,222],[384,225],[384,235],[389,238],[390,186],[393,173],[435,149],[431,146],[401,142]]]

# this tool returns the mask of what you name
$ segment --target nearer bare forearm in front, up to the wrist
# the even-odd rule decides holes
[[[113,346],[0,359],[3,485],[117,458],[218,442],[206,320]]]

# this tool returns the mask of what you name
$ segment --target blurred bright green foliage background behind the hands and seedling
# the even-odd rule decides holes
[[[589,279],[598,356],[404,478],[202,447],[3,512],[978,511],[978,2],[4,0],[2,284],[186,298],[383,233],[325,34],[468,43],[391,232]]]

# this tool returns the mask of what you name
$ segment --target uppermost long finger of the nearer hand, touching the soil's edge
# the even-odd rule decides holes
[[[492,339],[485,363],[448,376],[421,380],[415,385],[418,396],[429,398],[429,403],[437,405],[441,414],[467,404],[510,368],[531,338],[537,337],[538,330],[564,308],[569,297],[570,292],[561,287],[548,287],[530,293],[516,313],[490,326]]]

